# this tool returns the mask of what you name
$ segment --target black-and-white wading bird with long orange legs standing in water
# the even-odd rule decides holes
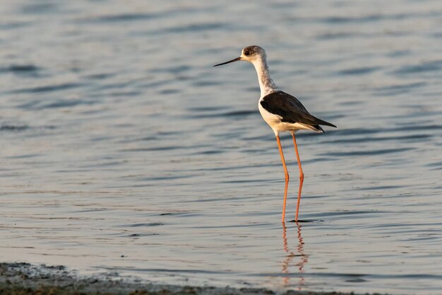
[[[222,64],[229,64],[230,62],[238,62],[244,60],[250,62],[255,66],[256,73],[258,74],[259,88],[261,89],[261,97],[258,101],[258,109],[263,116],[265,122],[275,132],[277,146],[280,150],[280,156],[282,160],[282,166],[285,173],[285,191],[284,191],[284,204],[282,205],[282,222],[285,222],[285,204],[287,202],[287,187],[289,185],[289,173],[287,166],[285,165],[284,154],[282,154],[282,147],[280,141],[280,132],[288,131],[292,134],[294,150],[297,154],[297,161],[299,166],[299,190],[298,190],[298,202],[297,212],[295,215],[295,221],[298,221],[299,203],[301,202],[301,190],[302,183],[304,182],[304,173],[301,168],[301,161],[299,160],[298,146],[295,132],[300,129],[308,129],[314,132],[324,132],[320,125],[327,125],[336,127],[335,125],[325,122],[317,117],[313,117],[304,108],[297,98],[289,95],[280,88],[277,88],[275,82],[270,78],[270,71],[267,65],[267,55],[265,50],[259,46],[248,46],[241,51],[241,56],[235,59],[229,60],[229,62],[223,62]],[[215,64],[220,66],[222,64]]]

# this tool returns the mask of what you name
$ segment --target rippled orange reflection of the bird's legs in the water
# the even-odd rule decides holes
[[[301,291],[305,284],[305,278],[304,278],[304,266],[307,262],[309,262],[309,256],[304,253],[304,240],[301,236],[301,225],[299,223],[297,224],[297,236],[298,236],[298,245],[296,248],[296,253],[289,250],[289,245],[287,243],[287,227],[285,226],[285,223],[282,223],[282,241],[284,243],[284,250],[287,253],[287,256],[285,260],[282,262],[282,272],[284,274],[287,274],[284,277],[284,285],[287,286],[289,284],[289,278],[290,278],[290,272],[289,267],[291,265],[290,262],[292,262],[293,258],[298,257],[299,262],[297,262],[295,265],[297,266],[297,272],[299,273],[299,281],[298,281],[298,290]]]

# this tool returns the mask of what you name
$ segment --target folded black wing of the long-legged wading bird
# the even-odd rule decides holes
[[[282,117],[282,122],[302,123],[314,127],[317,125],[336,127],[329,122],[310,115],[297,98],[283,91],[275,91],[264,96],[263,100],[261,100],[261,105],[268,112]]]

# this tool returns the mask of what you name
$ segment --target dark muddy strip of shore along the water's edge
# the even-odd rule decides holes
[[[29,263],[0,263],[0,294],[150,294],[150,295],[248,295],[281,294],[269,289],[231,287],[172,286],[126,282],[109,277],[76,277],[63,266],[30,265]],[[283,295],[353,294],[337,292],[285,291]]]

